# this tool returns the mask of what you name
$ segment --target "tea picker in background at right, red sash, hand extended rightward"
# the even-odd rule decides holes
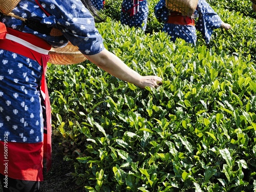
[[[198,1],[195,12],[191,16],[167,9],[165,0],[160,0],[154,11],[158,21],[164,23],[162,31],[166,32],[174,42],[176,38],[181,38],[196,45],[198,30],[208,45],[214,29],[229,30],[231,28],[221,20],[205,0]]]

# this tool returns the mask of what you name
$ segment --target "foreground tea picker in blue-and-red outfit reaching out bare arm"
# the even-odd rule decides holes
[[[104,48],[95,28],[104,19],[90,0],[0,0],[0,8],[0,179],[4,192],[37,192],[43,158],[51,165],[52,47],[71,42],[99,68],[140,88],[158,87],[162,78],[141,76]]]

